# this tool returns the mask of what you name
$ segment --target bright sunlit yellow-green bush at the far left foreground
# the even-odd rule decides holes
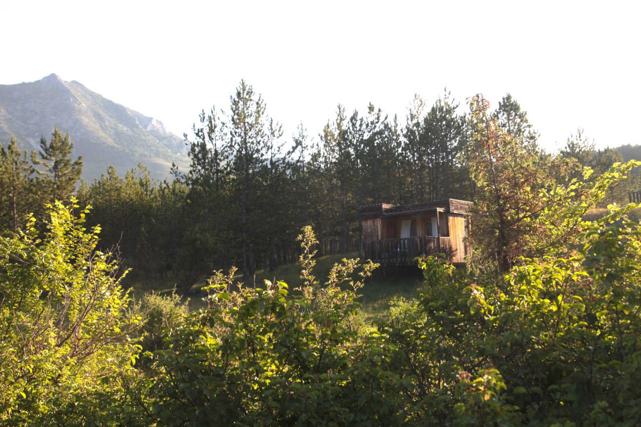
[[[117,262],[96,251],[99,228],[85,230],[87,210],[74,208],[48,206],[42,237],[31,217],[0,240],[0,421],[102,423],[106,408],[131,408],[138,347],[127,334],[139,319],[124,315],[129,296]]]

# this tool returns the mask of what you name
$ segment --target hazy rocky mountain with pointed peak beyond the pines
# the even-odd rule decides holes
[[[15,136],[22,149],[37,149],[57,126],[69,131],[74,156],[83,156],[85,180],[109,165],[121,174],[143,163],[153,178],[169,176],[172,162],[185,168],[183,140],[146,117],[56,74],[17,85],[0,85],[0,142]]]

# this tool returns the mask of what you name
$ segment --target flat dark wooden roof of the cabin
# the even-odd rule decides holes
[[[358,219],[387,218],[399,215],[415,215],[424,212],[447,212],[465,214],[473,203],[465,200],[443,199],[425,203],[413,203],[412,205],[390,205],[389,203],[378,203],[376,205],[360,206],[358,208]]]

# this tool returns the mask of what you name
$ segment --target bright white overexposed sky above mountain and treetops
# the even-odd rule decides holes
[[[641,144],[635,3],[0,0],[0,84],[54,72],[182,135],[244,78],[285,137],[315,137],[338,103],[403,123],[413,94],[510,92],[548,151],[578,127]]]

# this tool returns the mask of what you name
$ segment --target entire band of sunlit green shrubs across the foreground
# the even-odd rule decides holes
[[[627,167],[615,165],[588,196],[604,194]],[[15,424],[638,425],[641,228],[626,218],[634,205],[587,222],[577,216],[585,199],[577,200],[579,208],[533,218],[538,227],[554,213],[555,244],[506,274],[420,260],[417,298],[395,300],[375,325],[355,302],[374,265],[344,260],[319,283],[305,228],[294,289],[266,281],[233,290],[234,272],[217,272],[199,312],[187,314],[175,296],[142,301],[146,351],[136,367],[142,350],[125,334],[138,317],[125,311],[116,265],[94,250],[97,230],[58,204],[42,241],[33,227],[2,240],[1,416]],[[556,236],[566,223],[576,235],[563,246]]]

